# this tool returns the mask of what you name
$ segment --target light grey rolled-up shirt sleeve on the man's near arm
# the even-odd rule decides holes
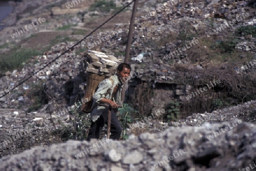
[[[112,87],[112,82],[108,79],[103,80],[98,85],[98,90],[93,94],[93,101],[99,103],[101,99],[105,98],[106,92]]]

